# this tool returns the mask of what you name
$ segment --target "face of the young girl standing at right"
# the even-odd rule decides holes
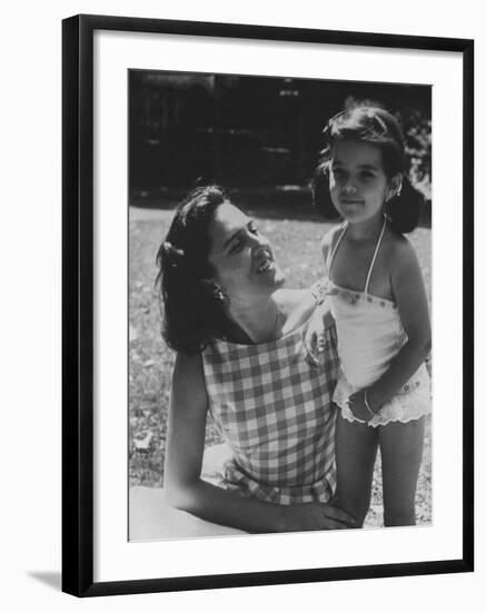
[[[334,206],[349,223],[381,217],[385,198],[391,194],[381,150],[370,142],[337,141],[330,159],[329,189]]]

